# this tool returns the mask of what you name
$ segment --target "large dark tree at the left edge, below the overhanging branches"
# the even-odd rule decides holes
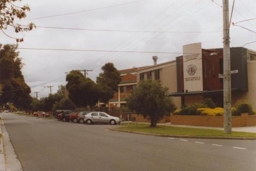
[[[0,44],[0,48],[0,84],[3,86],[0,104],[13,102],[15,107],[27,110],[31,91],[21,72],[23,64],[16,51],[17,45]]]

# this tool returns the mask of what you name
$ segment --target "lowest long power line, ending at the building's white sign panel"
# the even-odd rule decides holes
[[[0,49],[2,49],[2,48],[0,48]],[[180,53],[180,52],[145,52],[145,51],[94,50],[94,49],[57,49],[57,48],[26,48],[26,47],[17,47],[15,49],[61,50],[61,51],[82,51],[82,52],[147,53],[147,54],[184,54],[184,53]],[[188,53],[188,54],[191,54],[191,53]]]

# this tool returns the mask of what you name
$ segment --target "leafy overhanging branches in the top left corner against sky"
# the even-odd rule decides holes
[[[29,23],[27,26],[20,25],[15,23],[15,20],[17,19],[25,19],[26,18],[26,12],[30,11],[30,8],[28,5],[23,6],[17,6],[14,5],[16,1],[21,0],[1,0],[0,1],[0,29],[1,31],[10,38],[16,39],[17,42],[22,42],[23,38],[14,38],[9,35],[4,30],[7,30],[9,26],[14,28],[14,31],[16,33],[24,32],[24,31],[30,31],[33,28],[36,28],[36,25],[34,23]]]

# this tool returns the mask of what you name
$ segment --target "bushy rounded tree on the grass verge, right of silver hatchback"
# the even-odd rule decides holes
[[[144,117],[148,116],[150,127],[155,127],[166,112],[173,112],[177,108],[173,99],[167,96],[167,90],[158,81],[141,81],[126,99],[127,106]]]

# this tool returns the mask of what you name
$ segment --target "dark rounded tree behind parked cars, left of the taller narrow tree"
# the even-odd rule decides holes
[[[99,92],[94,81],[75,70],[67,75],[66,81],[68,97],[77,107],[95,106],[99,100]]]

